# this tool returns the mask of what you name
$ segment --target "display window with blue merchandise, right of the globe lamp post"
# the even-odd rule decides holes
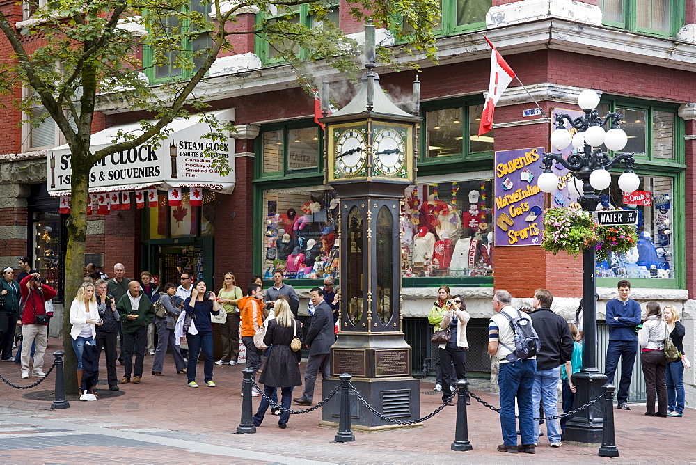
[[[609,209],[638,210],[638,244],[626,255],[612,255],[597,263],[598,278],[675,278],[674,276],[674,179],[640,176],[640,187],[623,194],[619,174],[612,173],[610,194],[601,196]]]

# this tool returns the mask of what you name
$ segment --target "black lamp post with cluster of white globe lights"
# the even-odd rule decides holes
[[[623,163],[625,170],[619,177],[619,188],[626,193],[638,189],[640,180],[633,173],[634,160],[632,153],[615,153],[613,157],[603,152],[599,145],[617,152],[626,146],[628,137],[623,129],[619,128],[621,115],[619,113],[607,113],[599,116],[596,106],[599,104],[599,95],[594,90],[583,90],[578,96],[578,105],[585,111],[585,115],[573,120],[567,114],[556,116],[556,129],[551,133],[551,145],[557,150],[564,150],[569,145],[578,150],[564,158],[560,153],[544,153],[542,163],[544,173],[539,176],[539,189],[551,192],[556,189],[558,177],[551,172],[553,164],[560,164],[573,173],[571,189],[576,188],[580,196],[580,206],[591,214],[599,205],[597,191],[607,189],[611,184],[611,175],[607,171],[619,163]],[[577,129],[575,136],[565,129],[568,123]],[[604,126],[610,123],[610,129],[605,132]],[[581,189],[578,184],[582,184]],[[583,251],[583,368],[573,375],[572,379],[578,391],[575,395],[574,408],[586,404],[602,393],[602,386],[606,384],[607,377],[597,368],[597,326],[596,326],[596,281],[594,244],[587,246]],[[565,439],[578,443],[599,444],[603,415],[599,404],[585,409],[569,420],[566,424]]]

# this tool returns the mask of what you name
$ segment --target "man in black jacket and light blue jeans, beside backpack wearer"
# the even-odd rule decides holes
[[[539,416],[539,404],[544,403],[544,415],[555,416],[558,403],[558,381],[560,381],[560,367],[570,360],[573,354],[573,338],[571,337],[568,323],[560,315],[551,311],[553,295],[546,289],[537,289],[534,292],[532,307],[535,310],[530,313],[541,349],[537,352],[537,374],[532,386],[532,412]],[[561,430],[558,420],[546,422],[546,433],[551,447],[561,446]],[[539,421],[534,422],[534,442],[539,441]]]

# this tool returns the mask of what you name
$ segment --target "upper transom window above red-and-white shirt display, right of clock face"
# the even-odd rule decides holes
[[[478,135],[483,107],[465,99],[422,104],[418,164],[493,159],[495,129]]]

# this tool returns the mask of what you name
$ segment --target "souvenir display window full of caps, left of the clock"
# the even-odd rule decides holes
[[[329,186],[270,189],[263,195],[264,278],[338,276],[338,200]]]

